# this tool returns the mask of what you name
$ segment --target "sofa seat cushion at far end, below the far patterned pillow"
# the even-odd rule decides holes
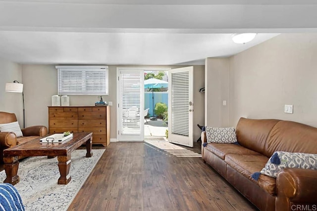
[[[238,154],[238,155],[261,155],[258,152],[252,151],[245,147],[236,144],[224,144],[224,143],[209,143],[205,147],[213,154],[224,160],[225,155]],[[262,167],[263,168],[263,167]]]

